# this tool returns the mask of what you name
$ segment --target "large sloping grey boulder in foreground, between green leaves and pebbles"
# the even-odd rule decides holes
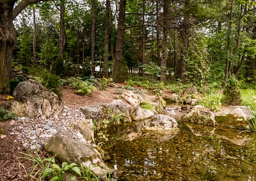
[[[100,152],[92,143],[88,143],[81,134],[62,131],[45,141],[45,150],[56,155],[60,161],[82,164],[100,177],[113,173],[113,169],[102,161]]]

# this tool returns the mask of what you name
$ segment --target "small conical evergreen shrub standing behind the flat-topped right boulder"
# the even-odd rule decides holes
[[[223,102],[228,105],[241,105],[241,92],[239,82],[234,75],[228,78],[227,85],[223,90]]]

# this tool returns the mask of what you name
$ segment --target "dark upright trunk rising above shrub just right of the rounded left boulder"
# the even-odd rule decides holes
[[[66,31],[65,31],[65,0],[61,1],[60,4],[60,47],[59,47],[59,57],[63,64],[63,57],[66,45]]]

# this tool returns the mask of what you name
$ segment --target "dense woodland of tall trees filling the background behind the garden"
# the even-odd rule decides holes
[[[114,82],[148,76],[152,65],[163,82],[224,87],[233,74],[252,82],[255,8],[246,0],[0,0],[0,88],[35,66]]]

